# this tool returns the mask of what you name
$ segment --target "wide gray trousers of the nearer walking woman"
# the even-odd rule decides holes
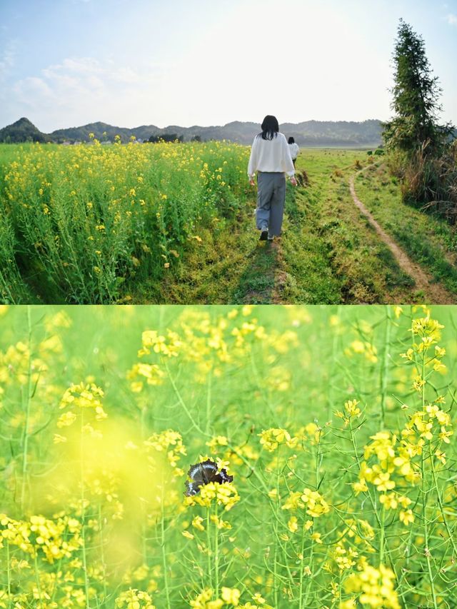
[[[284,173],[258,171],[256,226],[259,231],[268,228],[270,235],[275,237],[281,235],[285,200]]]

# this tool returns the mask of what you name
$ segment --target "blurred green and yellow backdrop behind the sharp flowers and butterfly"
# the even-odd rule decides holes
[[[390,437],[421,409],[413,389],[416,371],[401,358],[413,342],[413,318],[431,315],[444,326],[436,339],[446,348],[446,369],[428,379],[426,399],[445,396],[444,409],[455,419],[452,306],[4,306],[0,315],[0,514],[22,523],[33,514],[76,519],[86,535],[89,565],[86,571],[71,560],[74,553],[63,563],[40,559],[34,569],[21,571],[22,550],[0,550],[0,583],[12,581],[11,602],[24,594],[27,608],[34,606],[34,581],[58,603],[50,608],[114,608],[129,586],[148,590],[157,608],[189,606],[214,575],[206,533],[192,526],[206,512],[183,503],[186,472],[206,457],[229,468],[241,497],[224,513],[231,528],[219,531],[222,585],[241,590],[244,603],[261,593],[276,608],[305,606],[294,566],[300,538],[291,535],[290,514],[281,503],[291,490],[318,489],[331,512],[317,518],[313,529],[324,543],[305,546],[306,561],[312,554],[316,565],[306,602],[336,607],[331,584],[338,588],[343,581],[332,567],[336,544],[344,539],[370,564],[379,560],[372,554],[378,537],[374,550],[371,541],[361,546],[347,534],[348,518],[366,519],[378,533],[383,527],[378,507],[364,493],[353,493],[358,461],[348,428],[334,413],[347,400],[359,402],[362,416],[354,425],[363,459],[373,433]],[[67,388],[81,382],[103,389],[106,420],[89,416],[87,408],[59,407]],[[77,423],[59,427],[70,410],[81,419],[81,430],[84,411],[84,423],[91,424],[86,436]],[[309,423],[314,427],[303,431]],[[303,443],[281,446],[281,455],[266,453],[258,435],[268,428],[286,428]],[[179,433],[185,447],[175,465],[167,451],[176,445],[157,454],[151,449],[167,430]],[[441,447],[447,464],[427,490],[442,493],[452,530],[455,446],[451,436]],[[402,492],[413,502],[421,496],[418,485]],[[433,569],[441,573],[437,588],[448,602],[445,574],[453,550],[433,502],[422,513],[433,520]],[[405,528],[394,513],[386,521],[383,560],[390,561],[408,606],[429,598],[417,505],[413,527]],[[67,590],[62,577],[71,579]],[[64,600],[68,604],[59,605]]]

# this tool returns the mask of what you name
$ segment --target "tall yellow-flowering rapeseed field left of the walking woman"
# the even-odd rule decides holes
[[[246,146],[93,144],[0,146],[0,301],[117,302],[246,202]]]

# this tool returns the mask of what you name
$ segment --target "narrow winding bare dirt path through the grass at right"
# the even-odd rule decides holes
[[[367,167],[361,169],[361,171],[366,171],[366,169]],[[361,173],[361,171],[358,171],[356,174],[352,175],[351,178],[349,178],[349,188],[351,190],[353,202],[356,204],[363,216],[366,217],[371,226],[373,226],[376,233],[378,233],[378,236],[383,240],[384,243],[386,243],[386,246],[390,248],[393,256],[395,256],[396,261],[398,262],[398,266],[400,266],[401,269],[411,276],[416,282],[417,290],[423,292],[426,301],[433,304],[453,303],[455,298],[451,295],[451,293],[449,293],[446,288],[441,286],[440,283],[436,283],[430,273],[424,271],[423,268],[418,265],[418,263],[413,262],[411,258],[407,256],[405,251],[403,251],[403,249],[398,246],[398,243],[393,241],[393,238],[391,238],[391,236],[389,236],[386,231],[383,230],[379,223],[373,218],[371,211],[368,211],[366,206],[364,206],[362,201],[358,198],[356,194],[355,178],[358,173]]]

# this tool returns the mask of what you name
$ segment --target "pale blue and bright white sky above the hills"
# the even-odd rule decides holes
[[[400,17],[457,123],[457,0],[0,0],[0,127],[387,119]]]

